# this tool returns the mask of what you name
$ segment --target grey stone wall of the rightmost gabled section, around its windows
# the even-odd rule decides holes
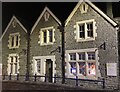
[[[79,6],[80,7],[80,6]],[[93,41],[81,41],[76,42],[76,22],[84,20],[95,20],[96,37]],[[106,49],[100,48],[100,45],[106,43]],[[82,13],[78,8],[74,13],[70,21],[65,27],[65,48],[67,50],[82,50],[89,48],[97,48],[98,50],[98,72],[97,77],[105,78],[107,88],[118,88],[118,34],[114,26],[106,21],[100,14],[98,14],[93,8],[88,6],[86,13]],[[67,60],[66,60],[67,62]],[[107,76],[107,63],[117,63],[117,76]],[[88,85],[90,85],[88,83]],[[86,86],[86,85],[83,85]]]

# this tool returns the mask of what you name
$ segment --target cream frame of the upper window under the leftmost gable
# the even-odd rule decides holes
[[[16,35],[18,36],[18,46],[16,46]],[[14,37],[13,46],[12,46],[12,37]],[[9,40],[8,40],[9,49],[19,48],[19,46],[20,46],[20,34],[19,34],[19,32],[10,34],[9,35]]]

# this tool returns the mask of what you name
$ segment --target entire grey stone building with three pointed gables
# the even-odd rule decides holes
[[[61,23],[45,7],[28,31],[13,16],[1,37],[3,74],[47,76],[52,83],[65,77],[65,84],[72,86],[78,78],[78,86],[94,89],[101,88],[96,81],[104,79],[105,88],[118,89],[119,18],[113,20],[112,10],[107,10],[109,16],[92,2],[80,0]],[[55,81],[55,76],[60,78]]]

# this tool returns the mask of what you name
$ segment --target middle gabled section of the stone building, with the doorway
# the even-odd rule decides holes
[[[32,27],[30,35],[30,71],[32,74],[50,76],[54,82],[55,74],[61,76],[61,33],[59,19],[45,7]],[[44,80],[42,78],[41,80]]]

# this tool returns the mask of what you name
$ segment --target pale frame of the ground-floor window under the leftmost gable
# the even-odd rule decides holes
[[[17,59],[18,61],[16,62],[15,60],[15,57],[17,56]],[[11,57],[13,57],[13,68],[12,68],[12,73],[11,73]],[[20,66],[19,66],[19,55],[18,54],[9,54],[9,57],[8,57],[8,68],[7,68],[7,71],[8,71],[8,75],[17,75],[19,73],[19,69],[20,69]],[[17,64],[17,73],[15,73],[15,64]]]

